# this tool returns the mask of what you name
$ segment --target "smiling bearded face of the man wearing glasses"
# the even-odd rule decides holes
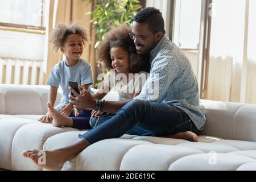
[[[149,53],[159,42],[158,33],[149,31],[147,23],[137,23],[134,21],[131,33],[142,39],[141,41],[137,38],[133,40],[139,55]]]

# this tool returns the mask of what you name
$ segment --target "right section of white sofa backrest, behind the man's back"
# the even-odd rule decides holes
[[[256,142],[256,105],[201,100],[207,118],[201,134]]]

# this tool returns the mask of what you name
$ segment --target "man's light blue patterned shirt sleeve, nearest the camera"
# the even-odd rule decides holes
[[[166,94],[179,72],[179,63],[174,55],[159,55],[152,61],[150,76],[141,93],[134,99],[158,102]]]

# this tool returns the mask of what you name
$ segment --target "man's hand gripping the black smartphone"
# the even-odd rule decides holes
[[[72,104],[73,107],[84,110],[95,108],[95,100],[87,90],[82,90],[81,86],[79,86],[79,94],[71,86],[69,86],[68,89],[75,95],[75,97],[73,97],[71,93],[69,93],[69,103]]]

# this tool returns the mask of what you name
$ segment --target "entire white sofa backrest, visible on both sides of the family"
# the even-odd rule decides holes
[[[0,84],[0,114],[46,114],[48,92],[49,86],[45,85]],[[55,104],[60,98],[61,90]],[[117,101],[118,94],[111,91],[104,99]],[[200,134],[256,142],[256,105],[210,100],[201,103],[207,121]]]

